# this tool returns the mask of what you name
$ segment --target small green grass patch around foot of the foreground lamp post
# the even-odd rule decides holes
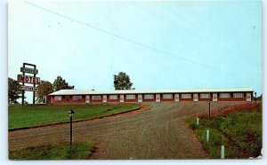
[[[92,153],[93,147],[88,142],[78,142],[72,145],[40,145],[9,152],[11,160],[85,160]]]

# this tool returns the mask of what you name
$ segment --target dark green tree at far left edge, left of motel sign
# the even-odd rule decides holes
[[[10,104],[17,104],[18,98],[22,98],[20,90],[20,83],[12,78],[8,77],[8,100]]]

